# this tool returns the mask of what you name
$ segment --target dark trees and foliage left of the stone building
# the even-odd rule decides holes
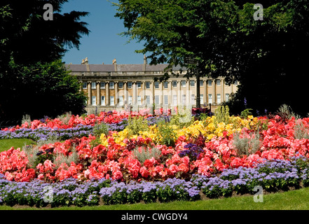
[[[83,111],[80,84],[59,60],[89,34],[87,23],[79,21],[88,13],[61,14],[67,1],[1,1],[0,120],[21,120],[25,113],[42,118]],[[53,8],[52,20],[43,16],[46,3]]]

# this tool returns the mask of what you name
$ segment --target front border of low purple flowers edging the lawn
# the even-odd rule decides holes
[[[230,197],[233,194],[254,194],[254,186],[266,192],[309,186],[308,158],[291,161],[272,160],[255,168],[225,169],[219,176],[194,174],[190,180],[177,178],[163,182],[130,181],[123,183],[107,179],[78,182],[65,179],[57,183],[8,181],[0,175],[0,203],[45,207],[93,206],[136,202],[170,202],[200,200],[201,197]],[[46,196],[48,195],[48,196]]]

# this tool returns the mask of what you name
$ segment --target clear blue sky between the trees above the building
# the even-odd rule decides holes
[[[117,0],[111,0],[118,2]],[[143,48],[142,43],[131,41],[118,35],[125,31],[123,21],[115,18],[116,6],[107,0],[69,0],[62,6],[61,13],[72,10],[89,12],[81,21],[88,23],[90,34],[81,38],[79,50],[71,48],[62,61],[69,64],[81,64],[88,57],[90,64],[112,64],[116,58],[117,64],[142,64],[143,55],[135,50]]]

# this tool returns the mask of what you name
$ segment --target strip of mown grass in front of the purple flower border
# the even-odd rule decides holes
[[[254,195],[242,195],[195,202],[137,203],[100,205],[95,207],[8,207],[0,210],[308,210],[309,188],[263,195],[263,202],[254,202]]]

